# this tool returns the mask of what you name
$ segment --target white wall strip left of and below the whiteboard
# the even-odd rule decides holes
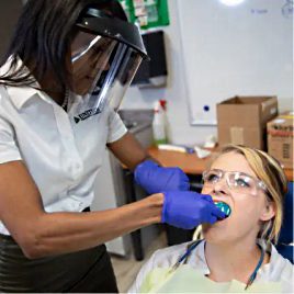
[[[168,101],[168,118],[171,126],[173,144],[202,144],[205,136],[217,133],[214,126],[191,126],[183,80],[180,27],[178,22],[177,0],[168,0],[170,25],[163,29],[166,33],[166,52],[168,61],[168,87],[165,89],[127,90],[122,109],[151,109],[159,99]]]

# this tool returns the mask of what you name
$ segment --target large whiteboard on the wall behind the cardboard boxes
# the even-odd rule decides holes
[[[194,125],[234,95],[293,98],[293,0],[178,0],[185,95]]]

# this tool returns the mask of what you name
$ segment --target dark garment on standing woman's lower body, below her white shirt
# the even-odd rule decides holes
[[[117,293],[118,290],[104,245],[31,260],[10,236],[0,235],[0,292]]]

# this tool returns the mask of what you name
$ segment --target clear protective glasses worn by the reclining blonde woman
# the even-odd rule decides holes
[[[224,171],[220,169],[212,169],[203,172],[203,186],[213,188],[215,184],[219,183],[225,178],[228,188],[240,194],[252,194],[257,195],[258,190],[267,192],[267,185],[245,173],[239,171]]]

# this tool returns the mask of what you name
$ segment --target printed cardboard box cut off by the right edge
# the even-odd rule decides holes
[[[279,115],[268,123],[268,152],[284,168],[293,169],[294,112]]]

